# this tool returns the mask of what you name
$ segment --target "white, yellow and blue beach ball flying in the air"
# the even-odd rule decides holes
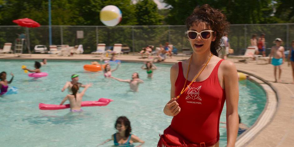
[[[100,11],[100,21],[106,26],[115,26],[119,24],[122,19],[122,13],[114,5],[105,6]]]

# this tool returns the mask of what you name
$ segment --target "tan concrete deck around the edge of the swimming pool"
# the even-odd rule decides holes
[[[28,55],[28,54],[23,54]],[[118,55],[119,60],[131,62],[143,62],[152,59],[141,59],[138,55]],[[74,56],[58,56],[53,54],[32,54],[29,56],[15,57],[13,54],[0,54],[0,61],[3,59],[11,60],[41,60],[43,58],[50,60],[99,60],[101,55],[82,54]],[[188,56],[173,56],[167,58],[163,63],[177,63],[178,60],[184,60]],[[109,59],[105,58],[104,59]],[[234,61],[229,58],[229,60]],[[256,64],[254,61],[248,63],[235,62],[238,70],[244,71],[256,77],[262,78],[269,84],[269,89],[273,88],[277,94],[277,107],[271,121],[265,124],[254,137],[252,137],[245,146],[293,146],[294,144],[294,84],[291,67],[284,63],[282,65],[281,83],[274,83],[273,66],[271,64]],[[265,89],[265,88],[264,88]],[[267,93],[270,97],[273,93]],[[241,145],[242,146],[242,145]]]

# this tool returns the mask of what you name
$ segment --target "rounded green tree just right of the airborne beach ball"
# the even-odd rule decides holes
[[[141,0],[136,3],[138,25],[161,25],[163,16],[159,14],[156,3],[152,0]]]

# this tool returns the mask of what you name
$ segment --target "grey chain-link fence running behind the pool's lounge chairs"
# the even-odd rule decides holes
[[[51,28],[53,45],[83,44],[84,53],[95,51],[98,43],[105,43],[106,46],[113,46],[115,43],[127,44],[131,52],[139,52],[147,45],[159,47],[165,42],[173,44],[178,52],[181,52],[182,48],[191,48],[186,38],[185,26],[51,26]],[[83,38],[77,38],[77,31],[83,31]],[[247,46],[250,46],[252,34],[257,34],[258,38],[261,33],[266,34],[266,48],[274,45],[272,42],[275,38],[281,38],[287,50],[294,40],[294,23],[231,25],[228,38],[234,54],[244,54]],[[0,26],[0,48],[8,42],[13,43],[14,47],[19,34],[25,34],[26,39],[29,39],[29,47],[32,51],[35,45],[46,45],[49,48],[49,26],[38,28]],[[24,50],[24,52],[28,51]]]

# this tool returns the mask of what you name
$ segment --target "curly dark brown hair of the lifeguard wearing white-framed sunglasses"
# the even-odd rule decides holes
[[[229,30],[229,22],[226,21],[225,14],[221,10],[214,9],[210,5],[205,4],[201,7],[197,6],[193,13],[186,19],[186,27],[189,30],[190,27],[203,22],[206,24],[207,28],[215,31],[213,37],[215,41],[211,42],[210,52],[215,56],[218,56],[217,49],[221,48],[221,38],[224,36],[225,32]]]

